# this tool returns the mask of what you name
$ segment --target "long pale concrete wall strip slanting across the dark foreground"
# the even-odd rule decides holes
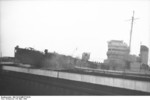
[[[129,80],[116,77],[94,76],[94,75],[50,71],[42,69],[20,68],[12,66],[3,66],[2,69],[6,71],[15,71],[47,77],[55,77],[60,79],[87,82],[92,84],[106,85],[150,93],[150,82],[148,81]]]

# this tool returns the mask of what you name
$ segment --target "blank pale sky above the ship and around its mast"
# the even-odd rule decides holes
[[[150,48],[149,0],[1,0],[1,56],[14,56],[19,45],[74,57],[90,52],[103,62],[108,41],[129,44],[133,10],[131,54],[138,55],[140,43]]]

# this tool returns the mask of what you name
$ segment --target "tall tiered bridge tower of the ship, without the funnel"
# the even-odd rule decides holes
[[[129,47],[121,40],[111,40],[108,42],[107,60],[110,69],[123,69],[126,65],[126,57],[129,56]]]

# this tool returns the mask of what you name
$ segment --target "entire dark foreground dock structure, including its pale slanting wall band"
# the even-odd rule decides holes
[[[0,95],[150,95],[150,77],[1,64]]]

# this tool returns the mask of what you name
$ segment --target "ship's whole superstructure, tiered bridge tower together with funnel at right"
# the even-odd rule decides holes
[[[126,43],[120,40],[108,42],[107,59],[104,64],[111,70],[141,71],[148,69],[148,47],[141,45],[139,56],[131,55]]]

